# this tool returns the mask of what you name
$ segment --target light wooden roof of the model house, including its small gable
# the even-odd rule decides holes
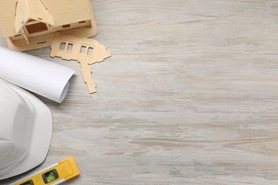
[[[32,19],[55,26],[91,20],[91,1],[1,0],[0,28],[4,37],[16,35]]]

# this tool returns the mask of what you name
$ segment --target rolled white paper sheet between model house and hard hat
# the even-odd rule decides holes
[[[56,102],[68,92],[74,70],[0,46],[0,78]]]

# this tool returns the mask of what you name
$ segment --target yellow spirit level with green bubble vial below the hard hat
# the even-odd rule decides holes
[[[57,185],[80,174],[73,157],[48,166],[10,185]]]

